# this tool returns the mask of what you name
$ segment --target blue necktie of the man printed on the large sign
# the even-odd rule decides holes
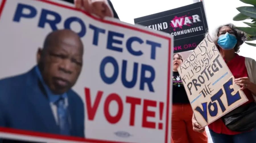
[[[61,135],[70,135],[69,132],[69,122],[68,122],[68,112],[65,108],[65,100],[61,97],[55,102],[57,105],[57,113],[59,120],[59,129]]]

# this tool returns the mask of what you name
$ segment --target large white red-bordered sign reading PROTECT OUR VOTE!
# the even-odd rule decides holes
[[[62,143],[170,142],[171,35],[117,19],[98,19],[45,0],[0,3],[0,138]],[[63,44],[73,42],[74,36],[52,36],[52,49],[46,46],[49,43],[44,44],[46,36],[58,29],[72,29],[79,34],[84,47],[82,61],[77,58],[79,54],[67,55],[75,50],[71,47],[77,42],[63,49]],[[67,41],[59,41],[63,37]],[[43,46],[49,53],[38,51]],[[53,49],[62,51],[54,53]],[[35,67],[44,60],[38,56],[46,55],[49,58],[44,64],[61,61],[57,69],[61,74],[76,72],[65,70],[70,68],[67,64],[81,68],[72,92],[66,93],[71,136],[58,134],[55,112],[51,110],[55,106],[50,107],[46,97],[49,83],[43,82],[48,78],[44,73],[55,69]],[[50,80],[54,85],[67,83],[61,77]],[[80,106],[80,100],[84,106]]]

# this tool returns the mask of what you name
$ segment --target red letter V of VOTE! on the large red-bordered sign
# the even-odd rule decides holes
[[[86,102],[86,109],[88,113],[88,120],[93,120],[95,117],[96,111],[98,109],[103,92],[98,91],[93,106],[91,104],[90,88],[84,88],[84,92],[85,92],[85,102]]]

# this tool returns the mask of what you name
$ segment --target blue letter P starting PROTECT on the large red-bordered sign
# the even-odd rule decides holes
[[[23,9],[28,9],[30,12],[29,14],[24,14]],[[18,4],[13,21],[19,22],[20,18],[33,18],[36,16],[36,8],[30,6],[30,5],[23,5],[23,4]]]

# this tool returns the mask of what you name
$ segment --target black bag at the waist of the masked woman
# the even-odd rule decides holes
[[[231,131],[244,132],[256,128],[256,103],[248,103],[237,107],[222,116],[225,125]]]

